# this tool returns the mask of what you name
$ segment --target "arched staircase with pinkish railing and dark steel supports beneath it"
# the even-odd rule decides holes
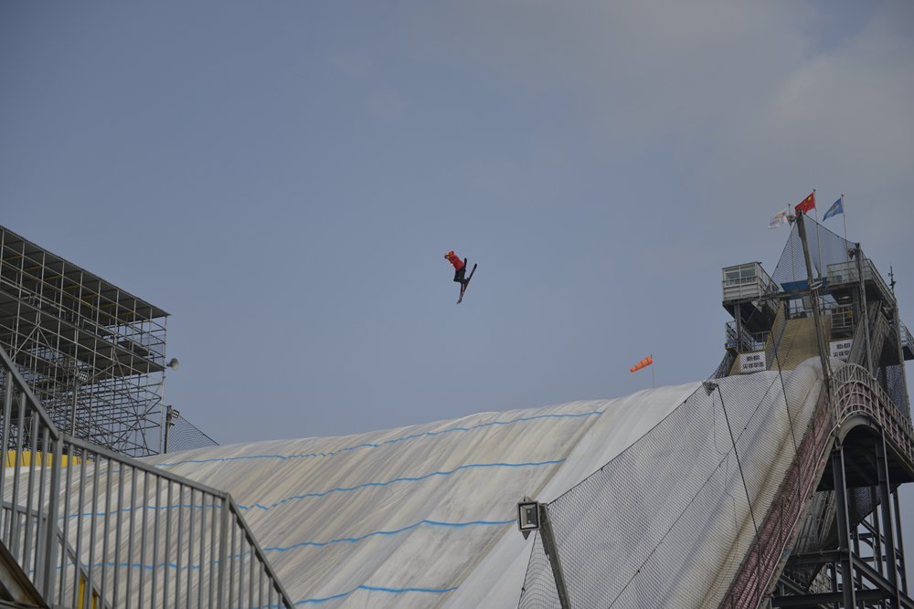
[[[868,434],[861,434],[861,431]],[[887,552],[893,556],[880,565],[880,570],[877,571],[870,565],[855,560],[848,547],[851,523],[847,521],[847,506],[845,500],[842,500],[846,499],[843,492],[846,486],[841,488],[847,483],[844,455],[845,451],[866,450],[869,447],[867,440],[874,438],[883,454],[883,457],[876,460],[881,462],[883,470],[877,472],[882,493],[879,503],[886,510],[889,503],[889,480],[896,485],[914,480],[914,429],[909,419],[891,403],[888,394],[870,373],[861,366],[846,365],[834,374],[830,391],[822,392],[813,421],[803,436],[790,472],[784,478],[778,499],[760,525],[758,538],[740,566],[720,607],[755,608],[766,599],[771,602],[771,606],[833,606],[831,604],[844,602],[844,606],[852,607],[857,606],[857,601],[888,599],[894,602],[888,606],[914,609],[914,601],[909,599],[904,588],[904,573],[899,573],[899,562],[894,552]],[[835,454],[840,457],[834,457]],[[830,455],[833,456],[831,459]],[[828,476],[828,470],[831,470],[831,476]],[[843,479],[844,482],[838,484],[838,479]],[[861,482],[863,480],[855,480],[854,484],[859,485]],[[836,509],[832,513],[837,514],[836,520],[839,521],[838,536],[844,539],[839,539],[837,551],[820,554],[818,561],[843,561],[847,572],[841,590],[807,594],[804,598],[806,604],[800,604],[791,601],[792,595],[784,591],[778,595],[772,592],[772,588],[791,559],[793,542],[802,529],[802,518],[804,514],[814,512],[813,498],[816,490],[823,486],[834,486],[837,500]],[[819,511],[820,516],[826,518],[829,513],[828,509]],[[890,523],[884,521],[883,524]],[[831,524],[826,526],[830,527]],[[879,532],[886,535],[891,543],[890,529],[888,527]],[[798,558],[815,560],[814,557]],[[866,581],[865,589],[855,591],[854,586],[850,585],[854,578],[850,574],[852,569],[856,570],[859,583]],[[847,604],[848,597],[855,592],[858,593],[854,595],[854,600]]]

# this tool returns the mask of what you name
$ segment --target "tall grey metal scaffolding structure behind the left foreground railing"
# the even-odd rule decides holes
[[[69,435],[131,457],[160,452],[167,318],[0,226],[0,345]]]

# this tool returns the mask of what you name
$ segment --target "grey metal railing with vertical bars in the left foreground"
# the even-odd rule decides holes
[[[0,391],[0,541],[48,604],[292,607],[228,493],[62,433],[3,349]]]

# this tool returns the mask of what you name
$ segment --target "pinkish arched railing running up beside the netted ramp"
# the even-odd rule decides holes
[[[788,549],[799,531],[800,516],[813,498],[827,462],[834,433],[856,415],[864,415],[885,430],[898,456],[914,467],[914,429],[892,404],[891,398],[866,369],[848,364],[832,378],[833,398],[819,396],[813,421],[803,436],[777,499],[763,521],[759,535],[719,605],[726,609],[755,609],[787,561]],[[834,432],[834,433],[833,433]]]

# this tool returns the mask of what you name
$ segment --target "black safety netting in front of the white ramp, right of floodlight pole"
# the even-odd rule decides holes
[[[791,337],[775,352],[788,357]],[[548,503],[572,607],[717,606],[810,424],[815,361],[711,380],[636,443]],[[731,436],[732,433],[732,436]],[[537,539],[520,607],[560,607]]]

